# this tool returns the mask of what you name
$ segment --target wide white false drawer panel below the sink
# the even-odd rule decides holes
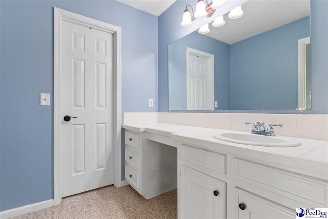
[[[326,208],[327,181],[233,157],[235,187],[258,194],[286,208]],[[295,216],[295,215],[293,215]]]

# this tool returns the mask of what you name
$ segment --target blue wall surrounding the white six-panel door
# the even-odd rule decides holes
[[[158,110],[158,19],[116,1],[0,4],[4,211],[53,198],[53,102],[39,106],[40,93],[53,97],[53,7],[122,27],[123,112]],[[152,108],[149,98],[154,99]]]

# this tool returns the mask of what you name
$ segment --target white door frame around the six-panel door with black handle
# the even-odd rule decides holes
[[[113,90],[114,90],[114,186],[121,187],[121,28],[100,22],[90,17],[75,14],[54,7],[54,142],[53,142],[53,172],[54,172],[54,205],[61,203],[61,134],[60,126],[60,29],[61,22],[69,21],[100,31],[113,34]]]

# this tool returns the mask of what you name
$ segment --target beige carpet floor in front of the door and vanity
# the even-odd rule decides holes
[[[177,218],[177,190],[145,200],[131,186],[106,186],[12,218]]]

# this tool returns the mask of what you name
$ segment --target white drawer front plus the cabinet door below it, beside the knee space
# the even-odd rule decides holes
[[[226,218],[226,155],[188,145],[178,147],[180,218]]]

